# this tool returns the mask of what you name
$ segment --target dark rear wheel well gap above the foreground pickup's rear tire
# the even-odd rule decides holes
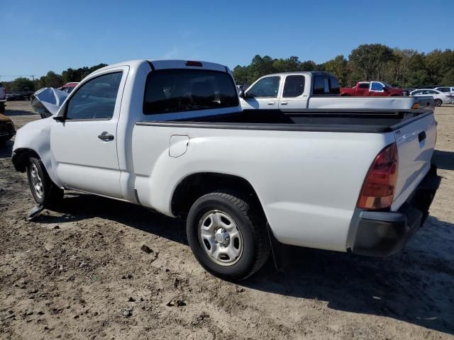
[[[253,186],[242,177],[204,172],[187,176],[178,184],[172,196],[172,213],[175,216],[185,218],[198,198],[216,189],[240,191],[241,194],[250,196],[260,205],[260,200]]]

